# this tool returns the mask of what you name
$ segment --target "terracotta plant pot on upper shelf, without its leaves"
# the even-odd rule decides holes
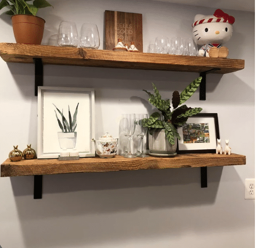
[[[41,44],[44,34],[44,19],[29,14],[15,14],[11,18],[17,43]]]

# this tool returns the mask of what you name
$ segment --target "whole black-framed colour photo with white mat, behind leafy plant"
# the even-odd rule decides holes
[[[177,153],[215,153],[220,139],[218,114],[197,114],[178,127]]]

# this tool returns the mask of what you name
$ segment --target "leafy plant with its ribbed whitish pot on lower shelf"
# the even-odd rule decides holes
[[[154,94],[143,90],[149,95],[148,101],[158,109],[148,119],[143,119],[143,125],[148,127],[150,134],[149,150],[151,155],[174,156],[177,154],[177,138],[180,140],[177,127],[186,123],[189,116],[202,111],[202,108],[190,108],[182,105],[182,103],[194,94],[201,80],[202,77],[196,78],[181,93],[174,91],[172,94],[172,109],[170,99],[162,99],[153,83]]]

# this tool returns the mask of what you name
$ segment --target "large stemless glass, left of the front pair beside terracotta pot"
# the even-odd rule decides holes
[[[57,43],[59,46],[77,47],[78,34],[74,21],[60,22]]]

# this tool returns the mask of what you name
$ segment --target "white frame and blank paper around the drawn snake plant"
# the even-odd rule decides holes
[[[54,105],[67,119],[68,109],[73,116],[78,105],[75,148],[79,157],[94,157],[94,89],[38,86],[37,158],[58,158],[61,153],[56,115],[62,118]]]

